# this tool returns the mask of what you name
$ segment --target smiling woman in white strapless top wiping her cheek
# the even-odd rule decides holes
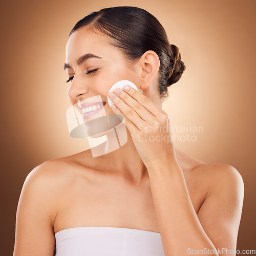
[[[124,118],[127,141],[110,150],[106,133],[99,157],[87,150],[35,167],[20,195],[13,255],[235,255],[239,172],[160,139],[172,138],[161,105],[185,66],[159,21],[129,6],[90,13],[70,33],[65,70],[73,105],[98,95],[108,102],[119,80],[136,85],[115,89],[102,108]]]

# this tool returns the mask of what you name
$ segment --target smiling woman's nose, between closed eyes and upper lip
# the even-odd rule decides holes
[[[87,85],[84,84],[84,81],[78,80],[74,77],[68,91],[70,102],[74,105],[78,100],[81,101],[85,98],[88,91],[89,89]]]

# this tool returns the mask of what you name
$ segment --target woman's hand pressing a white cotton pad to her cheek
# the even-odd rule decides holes
[[[125,90],[129,88],[129,90]],[[134,145],[146,167],[175,158],[169,116],[152,100],[130,86],[109,93],[112,110],[122,115]],[[115,95],[115,98],[111,96]],[[115,109],[116,108],[116,109]]]

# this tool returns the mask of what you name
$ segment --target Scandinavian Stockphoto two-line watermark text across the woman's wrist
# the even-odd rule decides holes
[[[169,135],[166,133],[171,129]],[[198,133],[203,133],[203,126],[144,126],[139,125],[139,141],[157,142],[196,142]]]

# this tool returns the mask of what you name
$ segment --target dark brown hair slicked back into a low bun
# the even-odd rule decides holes
[[[160,60],[160,99],[168,97],[167,87],[176,83],[186,69],[179,48],[170,45],[159,20],[151,13],[134,6],[117,6],[91,12],[76,23],[69,36],[89,25],[95,33],[111,38],[111,45],[122,50],[130,62],[135,62],[148,50]]]

